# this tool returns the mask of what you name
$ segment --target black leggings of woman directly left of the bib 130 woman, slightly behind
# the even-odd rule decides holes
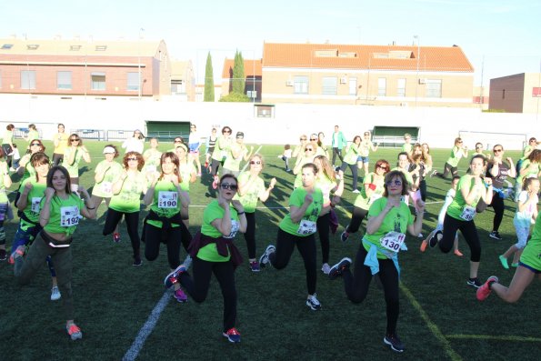
[[[303,261],[305,261],[308,294],[314,295],[317,283],[316,237],[314,235],[294,236],[278,228],[276,252],[269,256],[270,263],[276,269],[286,268],[295,246],[303,257]]]

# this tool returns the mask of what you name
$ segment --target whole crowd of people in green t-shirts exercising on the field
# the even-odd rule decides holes
[[[306,306],[317,311],[321,303],[316,295],[317,247],[321,246],[321,271],[330,279],[344,279],[346,296],[354,303],[362,302],[373,277],[384,289],[386,301],[386,334],[384,343],[396,352],[405,347],[397,335],[399,316],[398,254],[406,249],[406,232],[421,237],[420,250],[439,246],[448,253],[463,256],[458,249],[460,230],[470,249],[470,267],[466,285],[476,288],[479,300],[495,291],[507,302],[516,301],[536,275],[541,274],[541,220],[537,218],[539,176],[541,176],[541,148],[531,138],[522,157],[516,162],[504,157],[504,147],[494,145],[491,155],[483,153],[483,145],[476,144],[476,152],[468,159],[469,167],[459,175],[458,165],[468,158],[468,150],[461,138],[456,138],[449,158],[440,172],[433,164],[430,147],[412,144],[412,135],[405,142],[396,161],[372,159],[378,150],[369,131],[355,135],[351,142],[335,126],[330,142],[323,132],[300,135],[295,149],[284,146],[278,155],[285,162],[285,171],[295,175],[288,201],[288,212],[277,226],[276,244],[268,245],[262,256],[256,250],[256,208],[258,201],[272,196],[276,178],[265,186],[265,158],[245,145],[245,134],[229,126],[213,128],[206,137],[205,163],[202,165],[202,137],[196,125],[190,126],[185,143],[182,136],[174,139],[173,147],[162,153],[158,139],[151,138],[145,149],[145,135],[135,130],[122,147],[121,162],[116,145],[103,147],[105,158],[95,166],[95,185],[92,195],[79,183],[82,162],[90,163],[91,155],[80,135],[65,134],[65,126],[58,125],[53,137],[55,149],[52,159],[45,154],[35,125],[28,126],[25,155],[16,156],[14,125],[7,125],[0,149],[0,260],[14,265],[15,277],[21,284],[28,283],[44,261],[52,277],[51,300],[62,299],[66,316],[66,332],[72,339],[83,336],[74,321],[71,287],[72,255],[70,244],[81,218],[95,218],[97,208],[105,203],[106,217],[103,235],[121,240],[119,225],[125,219],[127,235],[133,254],[133,266],[155,261],[160,245],[165,244],[169,271],[165,286],[173,290],[178,302],[188,296],[203,302],[214,274],[224,297],[223,335],[228,341],[240,342],[236,322],[235,268],[243,256],[233,239],[244,234],[249,269],[260,272],[262,267],[284,269],[295,247],[306,269]],[[327,145],[329,143],[329,145]],[[336,163],[341,162],[341,164]],[[243,164],[245,165],[243,166]],[[396,167],[392,167],[396,163]],[[356,194],[351,218],[346,222],[340,238],[346,242],[363,227],[359,250],[354,261],[342,258],[330,266],[330,233],[335,233],[339,221],[336,205],[345,192],[345,171],[349,168],[353,183],[349,190]],[[205,206],[200,229],[189,231],[190,184],[202,172],[210,175],[209,192],[215,200]],[[22,178],[16,191],[14,206],[19,225],[6,250],[4,221],[10,216],[11,206],[6,190],[13,185],[10,172]],[[436,229],[424,237],[421,233],[425,217],[426,179],[438,176],[448,179],[451,188],[446,193]],[[515,186],[509,179],[516,178]],[[203,179],[203,178],[202,178]],[[360,182],[360,189],[359,189]],[[502,266],[516,267],[509,287],[499,283],[496,276],[486,282],[478,278],[481,242],[475,224],[476,214],[487,206],[494,210],[494,222],[488,236],[501,240],[498,233],[505,212],[504,199],[516,201],[517,241],[502,250]],[[141,199],[150,210],[139,231]],[[412,208],[410,208],[410,205]],[[537,219],[537,222],[536,222]],[[530,226],[536,223],[528,241]],[[141,241],[145,250],[141,251]],[[181,261],[181,245],[185,259]],[[353,272],[350,267],[354,265]],[[190,266],[192,268],[189,271]],[[266,272],[266,271],[265,271]]]

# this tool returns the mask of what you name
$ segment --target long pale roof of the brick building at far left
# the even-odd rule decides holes
[[[154,56],[161,41],[0,39],[0,55]]]

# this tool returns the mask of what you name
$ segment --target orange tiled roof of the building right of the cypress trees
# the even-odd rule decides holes
[[[263,67],[473,72],[459,46],[265,43]]]

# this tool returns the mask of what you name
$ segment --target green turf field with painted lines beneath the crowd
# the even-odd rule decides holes
[[[21,143],[20,149],[24,149]],[[50,142],[45,142],[52,150]],[[85,142],[93,161],[82,167],[81,183],[92,186],[95,165],[103,159],[103,142]],[[170,145],[163,145],[164,149]],[[277,223],[284,216],[291,193],[293,175],[283,170],[276,158],[281,147],[263,146],[265,181],[276,176],[278,184],[265,206],[257,211],[257,253],[275,243]],[[50,152],[47,152],[50,153]],[[381,149],[370,158],[386,158],[394,165],[397,149]],[[433,150],[435,167],[441,169],[448,149]],[[517,158],[518,152],[508,152]],[[459,169],[464,174],[466,161]],[[197,178],[192,186],[190,229],[201,225],[210,176]],[[427,215],[423,227],[426,234],[436,225],[441,201],[450,182],[429,178]],[[16,184],[18,186],[18,184]],[[10,190],[15,190],[15,185]],[[12,197],[14,195],[11,195]],[[356,255],[360,235],[343,244],[339,235],[349,221],[354,194],[351,177],[346,171],[346,192],[338,209],[340,227],[331,237],[331,263],[343,256]],[[13,200],[13,198],[12,198]],[[51,302],[50,277],[44,266],[29,286],[17,286],[13,267],[0,263],[0,340],[1,360],[100,359],[408,359],[408,360],[538,360],[541,355],[541,287],[536,280],[514,305],[496,296],[484,303],[476,301],[473,288],[466,286],[469,249],[460,242],[465,256],[444,255],[439,250],[418,251],[420,240],[406,240],[409,251],[400,254],[402,283],[400,317],[397,332],[406,346],[396,354],[382,340],[386,329],[383,292],[373,283],[366,301],[354,305],[346,299],[341,280],[330,281],[318,271],[317,296],[320,312],[305,306],[306,280],[302,259],[297,252],[285,270],[265,268],[253,274],[247,265],[245,241],[236,237],[236,244],[246,256],[235,273],[238,292],[237,328],[242,342],[228,343],[221,335],[222,296],[213,278],[207,300],[196,304],[178,304],[169,293],[164,296],[163,279],[168,273],[165,249],[155,262],[144,259],[142,267],[131,266],[131,246],[121,226],[122,242],[114,244],[101,236],[105,205],[97,221],[85,220],[78,227],[73,243],[75,322],[84,337],[73,342],[65,334],[65,320],[60,302]],[[506,214],[500,234],[502,241],[488,237],[493,212],[489,208],[476,217],[482,241],[479,278],[497,275],[508,285],[514,270],[503,269],[497,256],[516,242],[512,219],[515,205],[506,202]],[[142,212],[141,219],[145,212]],[[15,220],[5,226],[7,246],[15,234]],[[363,228],[361,228],[363,229]],[[361,232],[359,232],[361,233]],[[181,259],[184,259],[184,250]],[[318,248],[318,259],[321,252]],[[159,318],[151,316],[162,300],[165,308]],[[166,301],[165,301],[166,300]],[[168,301],[168,303],[167,303]],[[147,320],[155,326],[145,343],[134,346],[135,339]],[[133,348],[134,347],[134,348]],[[127,353],[128,350],[132,350]],[[127,354],[126,354],[127,353]]]

